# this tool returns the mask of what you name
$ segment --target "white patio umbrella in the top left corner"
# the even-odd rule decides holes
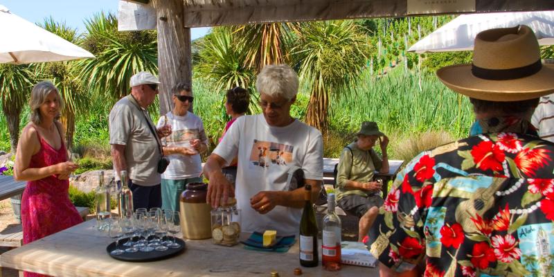
[[[0,64],[59,62],[82,57],[94,55],[0,5]]]

